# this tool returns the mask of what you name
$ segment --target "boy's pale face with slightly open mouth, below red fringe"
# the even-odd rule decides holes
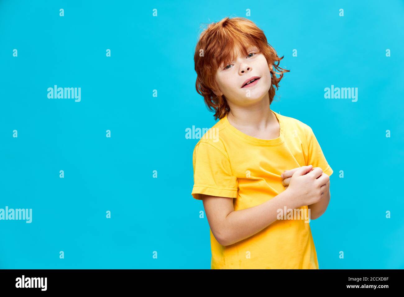
[[[219,90],[214,93],[224,95],[230,109],[231,105],[248,106],[256,103],[268,95],[271,87],[272,65],[268,67],[267,59],[257,46],[248,48],[245,57],[240,57],[240,51],[237,51],[235,59],[229,64],[220,65],[215,75]],[[243,87],[244,82],[253,76],[258,76],[259,79]]]

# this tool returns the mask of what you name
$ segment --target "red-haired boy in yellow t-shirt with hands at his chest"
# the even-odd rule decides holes
[[[212,269],[318,269],[310,225],[295,214],[324,213],[332,169],[308,125],[270,110],[289,72],[281,59],[241,17],[210,24],[196,45],[196,90],[220,119],[219,141],[202,137],[193,154]]]

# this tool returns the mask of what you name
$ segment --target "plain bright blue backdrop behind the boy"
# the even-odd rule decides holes
[[[247,8],[290,70],[271,109],[311,126],[334,170],[311,221],[320,269],[404,268],[404,4],[363,4],[0,1],[0,208],[32,209],[0,221],[0,268],[210,269],[185,128],[215,120],[193,55],[202,24]],[[48,99],[55,84],[81,101]],[[358,101],[324,99],[332,84]]]

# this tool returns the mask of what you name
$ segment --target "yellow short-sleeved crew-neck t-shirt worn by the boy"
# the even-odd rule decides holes
[[[273,112],[273,111],[272,111]],[[193,154],[191,195],[230,197],[234,210],[246,209],[285,190],[285,170],[312,164],[332,175],[312,129],[274,112],[280,124],[276,139],[258,139],[231,126],[227,116],[204,134]],[[301,209],[307,206],[302,206]],[[310,224],[304,219],[280,219],[260,232],[228,246],[210,230],[212,269],[318,269]]]

